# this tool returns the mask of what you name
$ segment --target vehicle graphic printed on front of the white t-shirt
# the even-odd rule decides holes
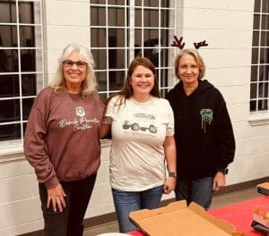
[[[151,133],[157,132],[157,127],[152,124],[155,116],[152,114],[134,114],[134,121],[125,121],[122,128],[125,130],[131,129],[132,131],[150,131]]]

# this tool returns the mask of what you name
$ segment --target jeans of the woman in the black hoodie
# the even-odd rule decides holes
[[[213,197],[213,177],[198,180],[179,180],[175,190],[177,200],[187,200],[187,205],[194,201],[208,210]]]

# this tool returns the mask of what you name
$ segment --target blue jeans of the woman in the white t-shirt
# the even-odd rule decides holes
[[[119,232],[131,232],[137,228],[129,220],[129,213],[143,208],[153,209],[160,206],[162,185],[151,190],[138,192],[112,189],[117,213]]]

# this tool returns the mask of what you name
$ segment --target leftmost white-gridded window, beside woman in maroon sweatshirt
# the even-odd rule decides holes
[[[34,97],[43,88],[41,1],[0,0],[0,155],[22,150]]]

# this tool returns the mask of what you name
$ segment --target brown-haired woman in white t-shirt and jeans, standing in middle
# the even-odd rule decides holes
[[[108,99],[101,137],[111,131],[110,183],[120,232],[136,229],[130,212],[156,208],[176,184],[174,116],[160,97],[150,60],[136,57],[123,89]],[[166,178],[166,166],[169,176]]]

